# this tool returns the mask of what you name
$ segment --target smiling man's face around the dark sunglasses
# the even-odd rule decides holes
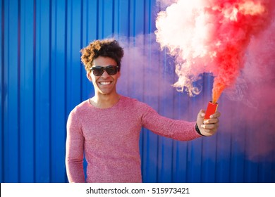
[[[92,67],[106,67],[108,65],[117,65],[117,63],[114,59],[103,56],[99,56],[92,61]],[[117,72],[115,75],[109,75],[106,70],[104,70],[100,76],[95,76],[92,70],[91,72],[87,72],[87,78],[94,85],[95,94],[116,94],[116,82],[120,76],[121,72]]]

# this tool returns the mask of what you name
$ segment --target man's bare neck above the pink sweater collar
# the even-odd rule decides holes
[[[90,103],[97,108],[111,108],[118,103],[121,96],[119,94],[96,94],[90,99]]]

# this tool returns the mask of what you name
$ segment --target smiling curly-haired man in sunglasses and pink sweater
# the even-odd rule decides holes
[[[219,127],[219,112],[204,121],[171,120],[147,104],[116,92],[123,49],[111,39],[96,40],[81,50],[94,96],[70,113],[67,122],[66,170],[69,182],[142,182],[140,130],[187,141],[211,136]],[[87,180],[83,170],[87,160]]]

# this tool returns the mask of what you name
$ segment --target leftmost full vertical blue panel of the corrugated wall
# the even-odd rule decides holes
[[[8,38],[4,43],[4,182],[19,182],[18,1],[5,1],[4,6],[4,34]]]

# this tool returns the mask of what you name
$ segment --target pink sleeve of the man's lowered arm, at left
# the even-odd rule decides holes
[[[69,182],[85,182],[83,170],[84,136],[73,110],[68,116],[66,139],[66,172]]]

